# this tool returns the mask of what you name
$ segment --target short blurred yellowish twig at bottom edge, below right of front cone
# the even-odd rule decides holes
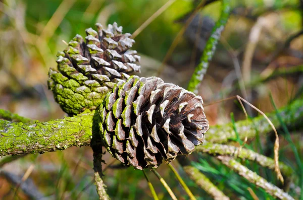
[[[184,166],[183,169],[191,180],[193,180],[201,189],[210,194],[215,200],[229,200],[229,197],[218,189],[217,186],[198,169],[189,165]]]

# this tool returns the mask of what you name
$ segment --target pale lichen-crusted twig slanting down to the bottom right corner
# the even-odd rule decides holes
[[[266,179],[259,176],[256,172],[250,171],[247,167],[241,165],[239,162],[233,160],[231,157],[218,156],[217,158],[228,168],[234,170],[236,173],[247,179],[249,182],[254,183],[255,185],[263,188],[270,195],[283,200],[294,200],[294,198],[291,197],[288,193],[284,192],[279,187],[269,183]]]

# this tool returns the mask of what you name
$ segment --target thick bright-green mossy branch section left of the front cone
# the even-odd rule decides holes
[[[0,120],[0,156],[35,154],[87,146],[92,136],[94,112],[48,122],[14,123]]]

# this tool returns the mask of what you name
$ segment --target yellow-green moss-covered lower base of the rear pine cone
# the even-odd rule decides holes
[[[59,70],[63,70],[66,74],[74,72],[70,66],[66,64],[65,66],[65,69],[60,69],[59,66]],[[49,89],[53,91],[60,107],[70,115],[79,114],[85,109],[96,109],[103,102],[104,96],[109,90],[100,87],[100,84],[95,80],[88,80],[81,73],[64,76],[61,72],[51,69],[49,75]]]

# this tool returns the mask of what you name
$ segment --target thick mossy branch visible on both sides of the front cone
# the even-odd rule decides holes
[[[303,118],[302,99],[293,101],[279,112],[289,129],[303,125],[300,123]],[[267,116],[278,129],[280,122],[276,113],[272,112]],[[0,156],[44,153],[64,150],[71,146],[89,146],[92,130],[98,130],[97,123],[93,121],[98,121],[98,118],[90,111],[47,122],[22,123],[0,120]],[[240,139],[255,138],[257,131],[260,135],[265,135],[272,130],[263,116],[240,120],[235,125]],[[236,138],[233,124],[212,126],[205,138],[211,143],[227,143]]]

